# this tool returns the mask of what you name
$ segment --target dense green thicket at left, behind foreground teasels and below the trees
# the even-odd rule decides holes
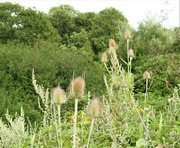
[[[41,112],[31,83],[32,69],[36,72],[38,82],[45,87],[52,88],[60,84],[63,88],[68,88],[74,73],[74,76],[85,76],[88,90],[103,93],[104,84],[100,83],[103,67],[98,62],[93,62],[93,57],[88,52],[75,47],[58,47],[56,43],[41,43],[43,46],[37,44],[33,48],[21,44],[1,45],[2,115],[7,107],[13,114],[23,106],[31,121],[40,121]]]

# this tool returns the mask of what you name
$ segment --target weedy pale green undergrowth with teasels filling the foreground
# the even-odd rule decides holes
[[[162,100],[162,109],[156,110],[152,101],[158,104],[164,98],[149,92],[151,83],[155,82],[152,73],[146,71],[142,73],[146,91],[138,98],[131,70],[135,54],[129,49],[128,30],[125,37],[127,60],[117,56],[116,51],[120,49],[113,39],[102,54],[107,70],[103,76],[106,93],[102,96],[85,93],[85,78],[73,78],[67,88],[70,92],[66,93],[59,84],[57,94],[53,94],[55,91],[36,83],[33,70],[32,82],[39,95],[43,121],[34,128],[25,123],[23,109],[15,117],[10,117],[7,111],[7,122],[0,120],[0,147],[180,147],[180,85],[174,88],[170,98]]]

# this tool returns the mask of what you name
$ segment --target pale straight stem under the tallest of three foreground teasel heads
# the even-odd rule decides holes
[[[73,148],[76,147],[76,123],[77,123],[77,109],[78,109],[78,99],[75,99],[75,110],[74,110],[74,135],[73,135]]]

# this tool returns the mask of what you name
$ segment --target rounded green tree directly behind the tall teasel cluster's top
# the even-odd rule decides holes
[[[103,45],[108,43],[109,39],[119,40],[118,28],[119,24],[127,24],[127,19],[123,14],[115,8],[106,8],[100,11],[93,19],[92,29],[90,30],[90,40],[93,45],[94,52],[103,51],[106,47]],[[124,32],[124,30],[121,30]]]

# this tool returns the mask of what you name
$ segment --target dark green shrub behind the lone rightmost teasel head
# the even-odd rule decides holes
[[[144,56],[135,62],[135,92],[145,92],[144,71],[150,71],[152,80],[150,81],[150,91],[153,94],[166,96],[172,93],[174,87],[180,84],[178,76],[179,53],[169,53],[160,56]],[[156,83],[154,83],[156,82]]]

